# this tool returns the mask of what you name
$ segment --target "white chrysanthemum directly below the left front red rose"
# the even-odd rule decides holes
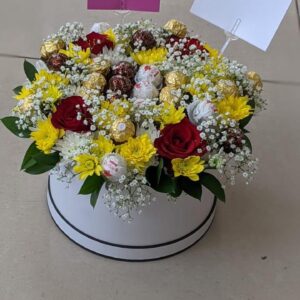
[[[72,160],[75,156],[88,153],[92,145],[90,133],[76,133],[67,131],[63,139],[56,143],[55,150],[60,152],[66,161]]]

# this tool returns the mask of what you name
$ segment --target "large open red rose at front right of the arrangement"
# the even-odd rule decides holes
[[[154,141],[154,146],[159,155],[168,159],[206,153],[206,142],[200,138],[200,131],[188,118],[178,124],[167,125],[161,131],[161,136]],[[202,152],[199,153],[198,149]]]

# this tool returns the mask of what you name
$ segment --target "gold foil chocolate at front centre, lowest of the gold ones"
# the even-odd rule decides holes
[[[117,143],[124,143],[135,134],[134,124],[125,118],[117,119],[113,122],[110,134]]]

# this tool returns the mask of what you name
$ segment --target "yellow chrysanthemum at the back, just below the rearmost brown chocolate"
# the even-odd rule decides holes
[[[144,64],[157,64],[161,63],[167,58],[167,49],[166,48],[153,48],[149,50],[143,50],[139,52],[132,52],[131,57],[139,65]]]

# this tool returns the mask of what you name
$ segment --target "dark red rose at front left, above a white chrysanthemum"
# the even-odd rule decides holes
[[[78,120],[78,116],[80,119]],[[79,96],[72,96],[62,100],[52,115],[52,124],[55,128],[75,132],[90,131],[92,116],[88,107]]]

